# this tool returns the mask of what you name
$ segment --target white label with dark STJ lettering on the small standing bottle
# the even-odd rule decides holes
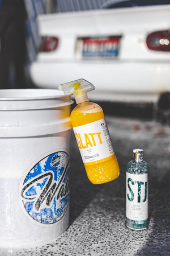
[[[148,174],[126,172],[126,217],[137,221],[148,218]]]

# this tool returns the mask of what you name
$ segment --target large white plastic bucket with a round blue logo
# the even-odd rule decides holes
[[[48,242],[69,225],[71,94],[0,90],[0,246]]]

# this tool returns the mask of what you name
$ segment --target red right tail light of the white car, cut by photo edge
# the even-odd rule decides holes
[[[151,33],[146,39],[147,47],[154,51],[170,51],[170,31],[162,30]]]

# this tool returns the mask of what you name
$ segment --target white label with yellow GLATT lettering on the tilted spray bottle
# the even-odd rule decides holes
[[[88,164],[114,154],[105,119],[73,128],[83,163]]]

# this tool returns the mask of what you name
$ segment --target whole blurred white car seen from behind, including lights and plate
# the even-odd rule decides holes
[[[157,101],[170,92],[170,5],[44,14],[33,82],[41,88],[76,79],[97,100]]]

